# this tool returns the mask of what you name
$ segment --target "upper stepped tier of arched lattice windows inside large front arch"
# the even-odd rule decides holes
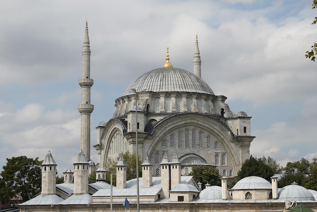
[[[168,145],[169,144],[169,145]],[[207,135],[205,138],[204,132],[199,131],[194,128],[189,130],[186,128],[184,131],[179,130],[177,134],[171,133],[169,139],[162,140],[162,148],[185,148],[185,149],[212,149],[214,147],[215,150],[219,150],[219,142],[215,142],[212,145],[211,136]]]

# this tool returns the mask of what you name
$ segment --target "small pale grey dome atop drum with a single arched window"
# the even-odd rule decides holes
[[[272,189],[272,185],[259,176],[247,176],[238,181],[230,190]]]

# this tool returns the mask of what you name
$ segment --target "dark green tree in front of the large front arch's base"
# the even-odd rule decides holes
[[[188,175],[192,175],[196,182],[201,182],[202,188],[208,183],[212,186],[220,186],[220,176],[218,171],[212,166],[198,165],[193,166],[191,172]]]

